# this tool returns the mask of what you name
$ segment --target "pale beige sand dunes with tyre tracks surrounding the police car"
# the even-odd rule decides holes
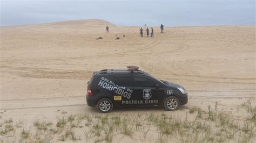
[[[246,110],[233,106],[256,103],[255,26],[165,27],[163,34],[154,27],[154,38],[146,37],[145,27],[140,38],[139,28],[97,19],[0,27],[0,120],[22,119],[29,126],[35,118],[56,120],[60,111],[98,114],[85,101],[92,72],[129,65],[183,85],[189,95],[183,109],[218,101],[232,118],[246,119]],[[164,111],[112,113],[138,112]],[[186,110],[165,113],[184,116]]]

